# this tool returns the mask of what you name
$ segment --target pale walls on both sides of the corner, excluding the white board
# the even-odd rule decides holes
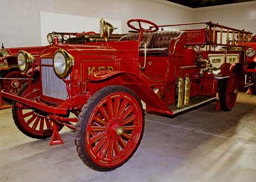
[[[156,24],[212,20],[256,31],[256,1],[194,10],[164,0],[0,0],[0,5],[0,43],[6,47],[41,44],[40,11],[121,20],[123,32],[128,30],[129,19],[148,19]]]

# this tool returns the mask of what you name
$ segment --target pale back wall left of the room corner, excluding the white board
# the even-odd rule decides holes
[[[40,11],[121,20],[123,32],[128,30],[129,19],[148,19],[157,24],[194,20],[191,8],[164,0],[0,0],[0,5],[0,43],[6,47],[41,44]]]

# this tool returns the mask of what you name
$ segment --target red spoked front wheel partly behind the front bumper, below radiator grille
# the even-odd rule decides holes
[[[29,92],[28,84],[25,84],[17,95],[28,100],[40,102],[39,84],[32,84],[31,92]],[[13,102],[12,113],[15,125],[25,135],[35,139],[46,139],[52,136],[52,121],[47,118],[46,112],[30,109],[19,102]],[[62,127],[60,125],[58,129],[61,130]]]

